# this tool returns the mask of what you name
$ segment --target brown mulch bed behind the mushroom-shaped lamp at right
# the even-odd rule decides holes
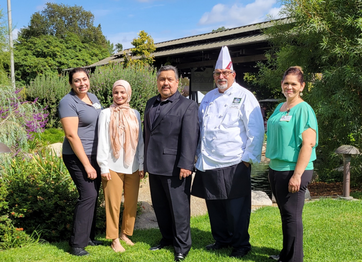
[[[308,185],[311,196],[342,196],[343,183],[314,182]],[[350,192],[362,191],[362,187],[350,187]]]

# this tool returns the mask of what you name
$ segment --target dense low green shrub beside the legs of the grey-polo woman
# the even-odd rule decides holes
[[[47,241],[69,239],[78,196],[62,158],[56,155],[15,158],[0,176],[0,216],[11,217],[14,226],[27,234],[41,232]],[[98,206],[103,201],[100,191]],[[98,209],[97,226],[104,230],[102,209]]]

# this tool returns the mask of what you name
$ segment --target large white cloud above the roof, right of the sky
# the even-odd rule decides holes
[[[199,25],[223,25],[227,28],[253,24],[266,20],[266,14],[277,12],[275,0],[255,0],[247,5],[217,4],[199,20]]]

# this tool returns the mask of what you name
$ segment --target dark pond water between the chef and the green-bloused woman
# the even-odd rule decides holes
[[[251,168],[251,188],[252,190],[260,190],[271,197],[271,189],[268,180],[269,165],[260,163],[258,166]]]

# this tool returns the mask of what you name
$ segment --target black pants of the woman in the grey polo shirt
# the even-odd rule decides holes
[[[75,186],[77,187],[79,198],[74,210],[73,228],[69,245],[75,248],[85,248],[89,240],[94,240],[96,229],[96,213],[98,192],[101,186],[101,169],[97,163],[96,155],[88,155],[88,159],[93,168],[97,171],[97,178],[91,180],[85,172],[83,164],[78,157],[73,155],[63,155],[66,165]]]

